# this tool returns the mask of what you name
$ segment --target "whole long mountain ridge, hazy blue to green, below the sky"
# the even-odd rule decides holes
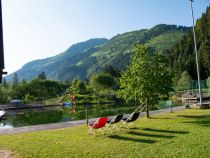
[[[151,29],[119,34],[110,40],[90,39],[74,44],[56,56],[29,62],[16,73],[20,80],[31,80],[43,71],[47,78],[52,80],[65,81],[76,77],[85,80],[92,73],[101,71],[106,65],[125,69],[129,65],[135,44],[146,44],[154,51],[163,51],[181,40],[189,29],[160,24]],[[13,75],[14,73],[6,76],[6,79],[11,80]]]

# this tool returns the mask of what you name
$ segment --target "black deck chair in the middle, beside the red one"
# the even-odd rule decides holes
[[[120,115],[116,115],[113,119],[108,120],[107,124],[106,124],[106,128],[104,129],[104,131],[109,130],[109,131],[113,132],[112,129],[115,129],[115,128],[117,130],[119,130],[119,128],[117,127],[116,124],[118,122],[120,122],[122,120],[122,118],[123,118],[123,114],[120,114]]]

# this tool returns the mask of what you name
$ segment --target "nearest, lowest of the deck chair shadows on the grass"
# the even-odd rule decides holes
[[[150,139],[123,137],[119,135],[112,135],[112,136],[109,136],[109,138],[116,139],[116,140],[123,140],[123,141],[132,141],[132,142],[137,142],[137,143],[147,143],[147,144],[153,144],[157,142],[155,140],[150,140]]]

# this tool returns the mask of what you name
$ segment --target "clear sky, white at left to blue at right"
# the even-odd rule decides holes
[[[210,0],[195,0],[195,18],[209,5]],[[188,0],[2,0],[2,7],[9,73],[90,38],[161,23],[192,25]]]

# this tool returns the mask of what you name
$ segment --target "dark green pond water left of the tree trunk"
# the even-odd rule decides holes
[[[103,116],[113,116],[116,114],[128,114],[133,112],[136,107],[97,105],[89,107],[88,117],[96,118]],[[66,122],[73,120],[82,120],[86,118],[86,109],[84,106],[78,106],[76,112],[69,108],[46,108],[46,109],[28,109],[18,111],[8,111],[7,116],[0,120],[0,128],[22,127],[30,125],[40,125],[48,123]]]

